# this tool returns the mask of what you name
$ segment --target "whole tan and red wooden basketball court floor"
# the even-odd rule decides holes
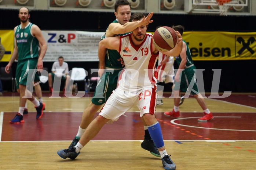
[[[168,96],[165,94],[164,96]],[[22,124],[10,124],[18,111],[17,93],[0,97],[0,169],[163,169],[161,159],[143,150],[144,129],[138,108],[133,107],[114,124],[106,124],[75,160],[62,159],[56,152],[67,148],[80,124],[92,94],[81,98],[51,98],[43,93],[46,110],[36,120],[29,114]],[[227,98],[206,98],[215,118],[198,122],[202,110],[195,98],[186,98],[181,116],[165,116],[172,98],[157,106],[168,154],[179,170],[256,169],[256,94],[231,94]]]

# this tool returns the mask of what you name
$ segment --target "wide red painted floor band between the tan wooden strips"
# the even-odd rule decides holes
[[[4,113],[1,141],[72,140],[82,112],[44,112],[40,120],[36,120],[35,112],[29,112],[24,116],[25,123],[10,124],[15,114]],[[139,113],[125,115],[114,124],[106,124],[93,140],[143,140]],[[255,113],[215,113],[212,121],[198,122],[201,116],[202,113],[181,113],[171,124],[173,119],[162,112],[156,114],[165,140],[256,140]]]

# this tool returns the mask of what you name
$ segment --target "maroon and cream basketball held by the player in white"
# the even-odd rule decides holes
[[[178,36],[175,30],[171,27],[159,27],[154,32],[153,44],[159,51],[169,51],[176,46]]]

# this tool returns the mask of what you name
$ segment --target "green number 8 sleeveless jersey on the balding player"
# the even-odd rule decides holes
[[[31,34],[32,23],[29,23],[25,28],[21,25],[17,26],[15,31],[15,38],[18,47],[19,61],[38,58],[39,55],[39,41]]]

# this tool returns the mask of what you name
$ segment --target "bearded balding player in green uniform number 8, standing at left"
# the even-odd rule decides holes
[[[37,69],[43,69],[43,58],[47,50],[47,44],[44,40],[40,28],[29,22],[30,14],[29,9],[22,7],[19,9],[19,19],[21,24],[14,28],[15,47],[11,59],[6,66],[6,72],[9,72],[15,58],[18,59],[16,69],[16,86],[20,95],[19,111],[10,123],[23,123],[23,111],[25,108],[26,100],[30,100],[36,108],[36,119],[43,116],[44,103],[40,103],[30,92],[26,90],[27,82],[33,81],[33,76],[29,77],[28,74],[32,69],[34,74]],[[39,43],[41,44],[41,52],[39,55]],[[26,96],[25,96],[26,92]],[[28,97],[29,96],[29,97]],[[32,97],[31,97],[32,96]],[[27,98],[25,98],[27,97]]]

